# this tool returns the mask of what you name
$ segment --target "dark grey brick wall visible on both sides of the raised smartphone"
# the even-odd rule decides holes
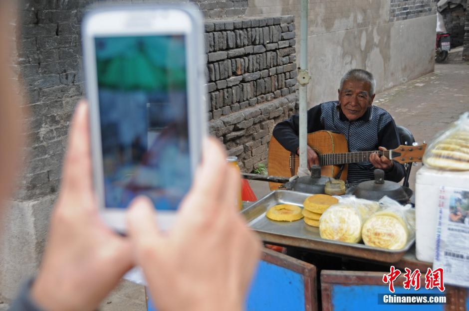
[[[28,93],[29,144],[18,201],[58,190],[71,114],[84,93],[79,24],[89,2],[26,0],[22,5],[18,67]],[[244,0],[195,2],[217,16],[242,13],[246,5]],[[208,22],[206,30],[210,129],[250,170],[265,161],[274,123],[294,110],[293,18],[232,18]]]

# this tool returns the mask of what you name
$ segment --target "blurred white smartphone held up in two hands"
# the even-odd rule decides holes
[[[125,232],[139,195],[168,229],[207,133],[202,15],[192,5],[118,5],[82,23],[94,188],[104,221]]]

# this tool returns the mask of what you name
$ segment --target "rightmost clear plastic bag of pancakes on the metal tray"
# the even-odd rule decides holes
[[[379,203],[382,209],[363,224],[363,242],[390,250],[403,248],[415,235],[415,210],[412,205],[402,206],[388,196]]]

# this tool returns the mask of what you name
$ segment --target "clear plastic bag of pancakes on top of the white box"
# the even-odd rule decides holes
[[[427,147],[423,162],[436,169],[469,170],[469,112]]]

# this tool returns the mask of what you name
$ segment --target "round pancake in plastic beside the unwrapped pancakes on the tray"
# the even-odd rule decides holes
[[[357,243],[361,239],[362,220],[359,212],[347,204],[335,204],[319,220],[321,238]]]

